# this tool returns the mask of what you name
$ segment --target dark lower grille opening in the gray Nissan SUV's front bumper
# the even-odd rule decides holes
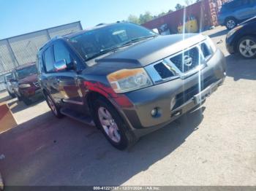
[[[201,81],[200,87],[199,87],[199,83],[197,83],[196,85],[189,87],[187,90],[184,90],[183,92],[178,93],[178,95],[176,95],[176,104],[175,106],[173,106],[173,109],[176,109],[182,104],[186,103],[191,98],[193,98],[194,95],[197,95],[198,93],[200,93],[200,91],[206,89],[206,87],[208,87],[214,82],[217,82],[216,77],[210,76]]]

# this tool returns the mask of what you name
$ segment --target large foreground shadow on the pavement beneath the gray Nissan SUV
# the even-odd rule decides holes
[[[197,130],[204,107],[118,151],[97,128],[50,112],[0,134],[7,185],[120,185],[170,155]]]

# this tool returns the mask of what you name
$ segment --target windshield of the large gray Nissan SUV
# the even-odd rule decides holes
[[[72,36],[69,42],[88,61],[119,47],[128,46],[132,42],[156,35],[153,31],[132,23],[119,23]]]

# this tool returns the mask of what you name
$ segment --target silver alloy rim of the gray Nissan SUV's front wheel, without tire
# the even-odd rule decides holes
[[[116,124],[116,121],[113,119],[110,112],[108,112],[108,109],[100,106],[98,109],[98,116],[99,122],[101,123],[102,128],[105,130],[105,133],[107,133],[108,137],[112,141],[118,143],[121,140],[118,125]]]

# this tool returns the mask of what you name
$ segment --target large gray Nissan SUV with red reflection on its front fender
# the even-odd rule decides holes
[[[52,39],[37,57],[53,114],[95,123],[118,149],[200,106],[226,70],[208,36],[159,36],[132,23]]]

